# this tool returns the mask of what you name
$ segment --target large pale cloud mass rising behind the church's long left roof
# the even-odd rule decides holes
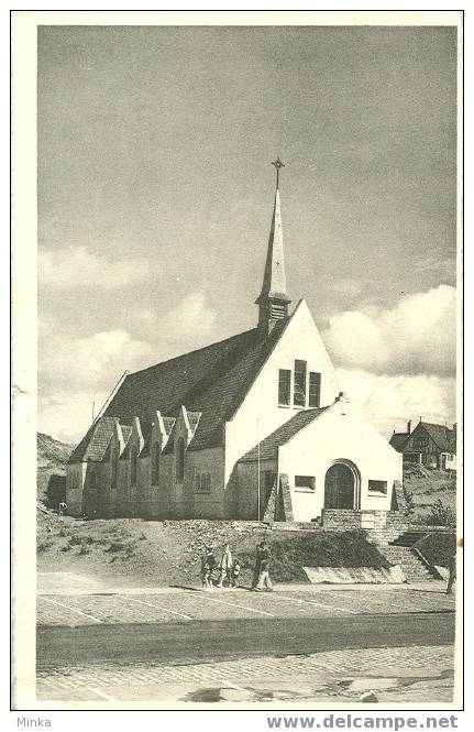
[[[216,313],[205,293],[187,295],[163,316],[135,314],[148,337],[124,329],[82,338],[62,332],[56,323],[40,321],[40,430],[76,443],[123,371],[136,371],[198,347],[210,336]]]

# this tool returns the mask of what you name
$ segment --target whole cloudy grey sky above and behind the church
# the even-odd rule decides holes
[[[38,429],[256,325],[286,273],[384,434],[455,420],[451,28],[38,28]]]

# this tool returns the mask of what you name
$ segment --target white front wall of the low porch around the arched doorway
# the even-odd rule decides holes
[[[389,511],[395,480],[403,480],[403,457],[360,414],[341,414],[341,404],[279,448],[279,472],[288,474],[295,521],[310,521],[324,507],[326,473],[335,460],[353,462],[361,474],[360,509]],[[296,476],[315,478],[315,491],[295,488]],[[368,481],[386,481],[387,494],[368,491]]]

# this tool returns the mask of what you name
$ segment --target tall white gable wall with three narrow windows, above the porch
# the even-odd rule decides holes
[[[337,396],[334,369],[305,301],[298,304],[235,416],[225,424],[225,485],[234,478],[239,458],[296,414],[294,406],[278,406],[278,371],[288,369],[293,374],[295,359],[307,361],[308,373],[321,373],[321,405],[332,403]],[[291,378],[291,405],[293,384]]]

